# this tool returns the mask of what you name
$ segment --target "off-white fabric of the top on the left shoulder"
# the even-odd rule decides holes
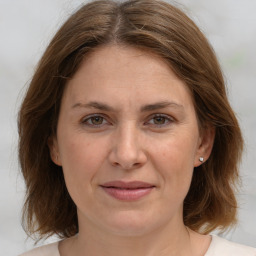
[[[28,252],[25,252],[19,256],[60,256],[58,250],[58,242],[43,245],[37,248],[34,248]]]

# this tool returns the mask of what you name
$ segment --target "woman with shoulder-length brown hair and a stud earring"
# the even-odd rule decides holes
[[[204,35],[155,0],[93,1],[43,55],[19,114],[23,255],[256,255],[236,223],[243,140]]]

